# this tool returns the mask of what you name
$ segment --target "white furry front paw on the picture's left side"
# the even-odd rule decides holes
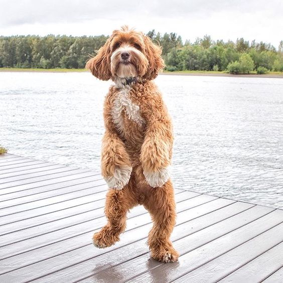
[[[109,189],[121,190],[129,182],[131,170],[128,166],[117,167],[113,176],[104,177]]]

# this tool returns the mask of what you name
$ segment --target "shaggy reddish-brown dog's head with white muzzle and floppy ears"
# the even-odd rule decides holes
[[[86,68],[105,81],[129,77],[152,80],[164,68],[161,52],[149,37],[123,26],[113,31],[97,55],[87,61]]]

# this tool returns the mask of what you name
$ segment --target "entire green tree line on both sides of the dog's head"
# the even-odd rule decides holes
[[[283,41],[276,50],[263,42],[213,41],[210,36],[194,43],[182,42],[176,33],[147,34],[163,47],[168,71],[206,70],[230,73],[283,72]],[[9,36],[0,37],[0,67],[11,68],[84,68],[86,60],[98,50],[107,36]]]

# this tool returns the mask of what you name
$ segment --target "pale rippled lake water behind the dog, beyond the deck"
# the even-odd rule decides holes
[[[283,208],[283,79],[160,75],[174,121],[175,188]],[[100,169],[110,82],[89,73],[0,72],[0,144]]]

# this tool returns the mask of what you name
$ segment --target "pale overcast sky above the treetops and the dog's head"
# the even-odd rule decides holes
[[[0,0],[0,35],[109,35],[122,25],[183,41],[283,40],[283,0]]]

